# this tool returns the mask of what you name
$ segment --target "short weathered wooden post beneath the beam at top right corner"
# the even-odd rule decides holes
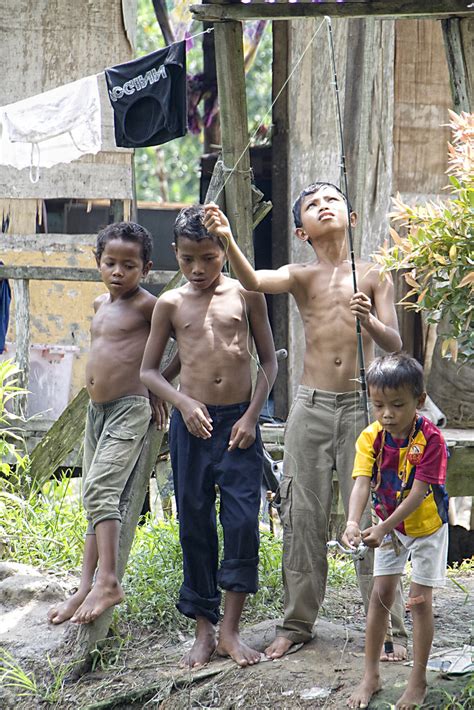
[[[453,108],[457,113],[472,111],[474,21],[453,17],[442,20],[444,46],[448,60]]]

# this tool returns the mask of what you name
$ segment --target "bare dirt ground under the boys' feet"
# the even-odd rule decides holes
[[[51,603],[51,585],[48,589],[48,598],[37,600],[36,627],[33,622],[28,627],[27,615],[20,615],[18,628],[10,628],[8,633],[0,630],[0,645],[17,659],[22,659],[23,667],[34,670],[38,679],[50,684],[51,690],[52,675],[45,659],[45,637],[49,634],[52,641],[56,634],[60,641],[64,630],[71,625],[65,624],[56,631],[45,624],[43,612]],[[463,646],[473,643],[470,628],[473,594],[474,575],[456,576],[455,581],[448,580],[444,590],[437,590],[434,653],[445,649],[461,651]],[[31,601],[29,604],[31,607]],[[244,628],[245,640],[263,650],[273,637],[274,624],[274,621],[265,621]],[[411,632],[409,616],[407,626]],[[23,641],[20,627],[24,632]],[[328,588],[324,609],[316,625],[316,637],[296,653],[246,669],[238,668],[228,659],[215,659],[204,669],[191,673],[178,668],[178,660],[191,645],[191,638],[181,635],[179,638],[163,637],[152,631],[125,628],[121,629],[125,640],[104,651],[93,672],[80,680],[66,681],[59,697],[53,698],[50,694],[50,700],[55,702],[47,704],[37,698],[14,697],[11,689],[3,687],[0,689],[0,707],[16,710],[40,707],[61,710],[344,708],[348,695],[361,677],[363,630],[364,615],[358,591]],[[50,650],[56,668],[67,662],[64,652],[58,655],[51,644]],[[384,663],[384,689],[369,707],[389,708],[401,695],[409,671],[404,664]],[[429,683],[430,691],[423,708],[447,708],[450,707],[449,697],[459,695],[467,678],[447,678],[431,671]],[[59,695],[61,683],[58,681],[56,685]]]

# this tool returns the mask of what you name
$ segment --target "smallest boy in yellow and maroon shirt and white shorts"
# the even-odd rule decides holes
[[[426,392],[423,370],[413,358],[393,353],[375,359],[367,386],[376,421],[360,434],[343,542],[374,547],[374,587],[367,614],[364,677],[347,701],[367,707],[381,688],[379,657],[388,610],[408,558],[412,581],[413,669],[397,710],[422,704],[426,664],[433,640],[433,587],[445,584],[448,551],[447,450],[441,432],[417,413]],[[378,524],[361,531],[370,492]]]

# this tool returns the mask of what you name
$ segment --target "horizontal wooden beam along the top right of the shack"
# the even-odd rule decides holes
[[[250,2],[191,5],[196,20],[294,20],[298,17],[448,18],[473,15],[468,0],[351,0],[351,2]]]

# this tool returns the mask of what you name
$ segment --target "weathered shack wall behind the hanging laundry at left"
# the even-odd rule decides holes
[[[113,0],[106,4],[86,0],[74,3],[5,0],[0,6],[3,67],[0,103],[13,103],[100,74],[107,66],[131,59],[135,6],[134,0]],[[130,214],[133,153],[115,147],[113,114],[105,81],[100,78],[102,150],[98,154],[41,169],[36,184],[30,181],[28,169],[0,165],[0,215],[4,229],[0,235],[0,255],[9,266],[68,268],[77,272],[95,268],[92,253],[95,235],[62,230],[58,233],[55,213],[65,213],[68,207],[81,201],[87,210],[95,201],[102,200],[112,216]],[[27,270],[22,275],[25,278],[12,281],[9,340],[15,341],[17,356],[23,352],[23,367],[28,367],[24,352],[29,344],[44,353],[46,370],[48,362],[54,362],[51,348],[57,360],[64,353],[73,353],[69,398],[83,384],[91,303],[103,292],[103,287],[93,281],[51,278],[47,271],[38,270],[36,278],[31,280]],[[77,276],[80,278],[79,272]],[[25,322],[28,313],[29,327]],[[43,350],[41,346],[45,346]],[[54,366],[50,369],[54,377]]]

